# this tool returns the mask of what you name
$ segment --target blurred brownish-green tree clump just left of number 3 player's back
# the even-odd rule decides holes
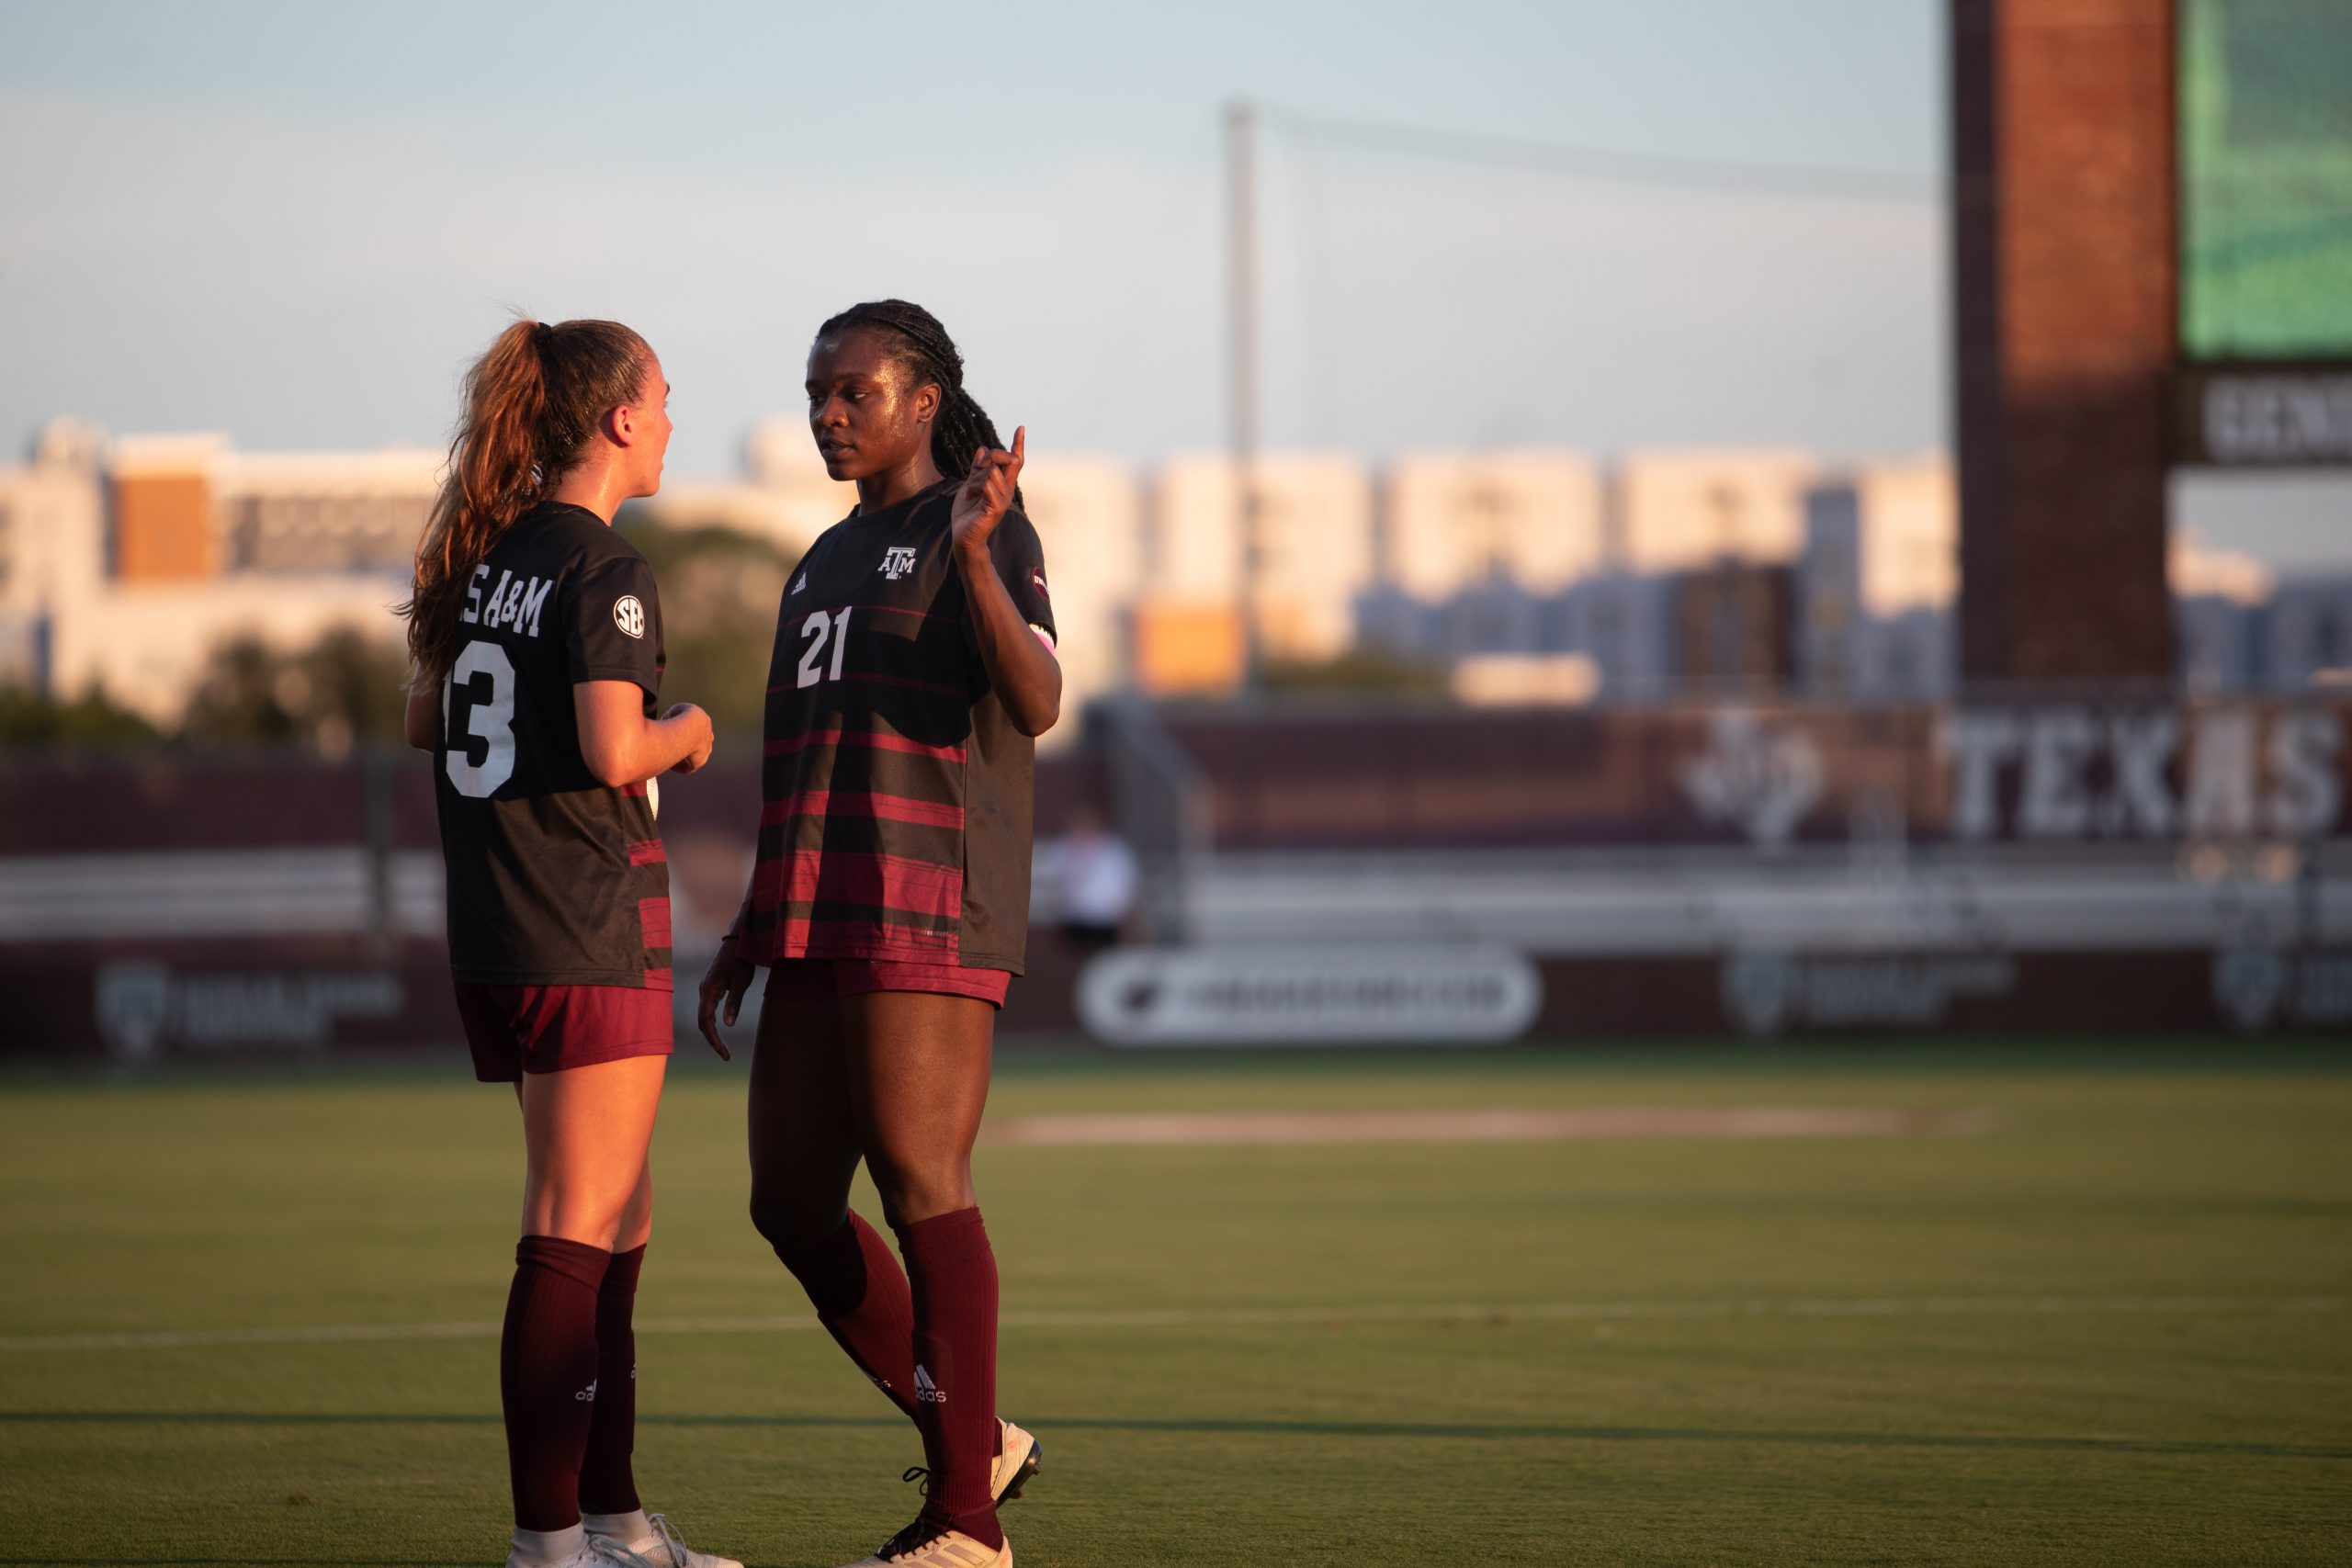
[[[360,741],[400,741],[407,672],[395,644],[348,625],[299,651],[230,637],[205,661],[181,736],[214,745],[303,745],[341,759]]]

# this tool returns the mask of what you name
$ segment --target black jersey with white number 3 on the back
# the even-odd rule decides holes
[[[661,665],[654,571],[595,512],[539,505],[475,569],[433,750],[459,980],[670,990],[654,804],[588,771],[572,701],[626,679],[652,717]]]

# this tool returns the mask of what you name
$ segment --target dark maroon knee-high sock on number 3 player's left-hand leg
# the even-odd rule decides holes
[[[515,1523],[567,1530],[581,1521],[581,1453],[595,1410],[595,1293],[612,1253],[602,1246],[524,1237],[499,1338],[499,1401]]]

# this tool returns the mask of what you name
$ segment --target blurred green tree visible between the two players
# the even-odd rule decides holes
[[[661,583],[663,703],[699,703],[720,731],[757,733],[776,604],[793,564],[764,538],[720,527],[668,527],[621,512],[621,534]]]

